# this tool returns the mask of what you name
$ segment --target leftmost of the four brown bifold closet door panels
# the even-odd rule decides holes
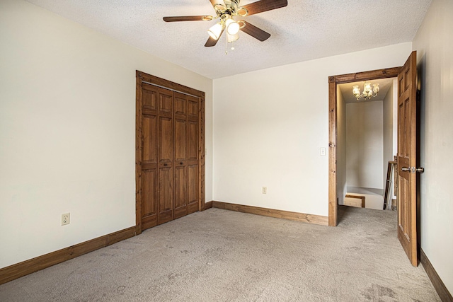
[[[142,86],[142,228],[157,224],[159,89]]]

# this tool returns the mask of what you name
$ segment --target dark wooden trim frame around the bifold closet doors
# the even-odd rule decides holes
[[[198,117],[198,156],[200,158],[198,210],[202,211],[205,209],[205,93],[137,70],[135,85],[135,228],[137,235],[142,233],[142,83],[149,83],[200,98]]]

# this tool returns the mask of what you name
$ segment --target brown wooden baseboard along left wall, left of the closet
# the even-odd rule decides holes
[[[135,226],[125,228],[124,230],[110,233],[105,236],[94,238],[83,243],[72,245],[69,248],[63,248],[62,250],[56,250],[48,254],[35,257],[30,260],[10,265],[0,269],[0,284],[4,284],[8,281],[18,279],[27,274],[38,272],[41,269],[57,265],[58,263],[70,260],[75,257],[79,257],[93,250],[105,248],[108,245],[117,243],[121,240],[131,238],[136,235]]]

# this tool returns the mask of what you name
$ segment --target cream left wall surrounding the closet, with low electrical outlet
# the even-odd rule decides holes
[[[205,91],[212,199],[210,79],[21,0],[0,41],[0,267],[135,225],[136,69]]]

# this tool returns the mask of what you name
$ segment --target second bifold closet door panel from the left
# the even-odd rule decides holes
[[[173,91],[159,88],[159,207],[157,224],[173,219]]]

